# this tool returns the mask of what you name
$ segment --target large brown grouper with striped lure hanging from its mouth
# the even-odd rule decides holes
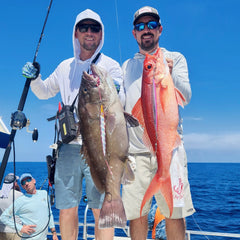
[[[79,90],[82,153],[97,189],[105,192],[99,228],[125,227],[120,186],[122,181],[134,179],[127,164],[129,141],[125,114],[112,78],[94,64],[91,69],[91,75],[83,73]]]

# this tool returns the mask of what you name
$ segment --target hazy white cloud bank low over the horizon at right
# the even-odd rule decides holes
[[[184,135],[186,149],[240,150],[240,133],[191,133]]]

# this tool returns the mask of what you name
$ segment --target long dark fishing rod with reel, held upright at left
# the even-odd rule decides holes
[[[50,13],[50,9],[51,9],[51,6],[52,6],[52,1],[53,0],[50,0],[49,6],[48,6],[47,15],[45,17],[42,32],[40,34],[40,38],[39,38],[37,48],[36,48],[36,51],[35,51],[35,54],[34,54],[33,63],[37,59],[37,55],[38,55],[39,47],[40,47],[40,44],[41,44],[41,41],[42,41],[44,29],[45,29],[47,19],[48,19],[48,15]],[[18,104],[18,109],[11,116],[10,125],[11,125],[12,130],[11,130],[11,134],[9,136],[9,142],[8,142],[8,145],[5,149],[3,159],[2,159],[2,163],[1,163],[1,167],[0,167],[0,185],[2,184],[3,175],[4,175],[4,172],[5,172],[6,166],[7,166],[8,158],[9,158],[11,148],[12,148],[12,143],[14,141],[17,129],[22,129],[23,127],[27,126],[27,123],[28,123],[28,121],[26,119],[26,116],[22,111],[23,111],[23,108],[24,108],[24,105],[25,105],[25,102],[26,102],[26,99],[27,99],[28,90],[29,90],[29,87],[30,87],[31,80],[32,79],[26,78],[25,85],[24,85],[24,88],[23,88],[23,92],[22,92],[22,95],[21,95],[21,99],[20,99],[19,104]],[[36,128],[33,131],[33,136],[32,137],[33,137],[33,141],[36,141],[37,138],[38,138],[38,132],[37,132]]]

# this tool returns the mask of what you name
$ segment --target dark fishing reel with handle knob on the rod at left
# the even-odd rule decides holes
[[[29,119],[26,118],[26,116],[23,112],[18,110],[16,112],[12,113],[11,122],[10,122],[11,128],[14,130],[17,130],[17,129],[22,129],[22,128],[26,127],[27,132],[32,133],[33,142],[36,142],[38,140],[38,130],[36,128],[34,128],[33,131],[30,131],[28,128],[29,125],[30,125],[30,121],[29,121]]]

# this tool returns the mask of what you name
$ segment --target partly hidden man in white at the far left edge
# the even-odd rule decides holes
[[[18,176],[15,176],[13,173],[9,173],[4,178],[3,186],[0,191],[0,216],[1,214],[13,203],[13,192],[14,199],[22,196],[20,192],[20,187],[17,183],[19,179]],[[18,223],[21,223],[19,218],[16,218]],[[3,222],[0,221],[0,239],[1,240],[19,240],[20,237],[16,234],[15,229],[6,226]]]

